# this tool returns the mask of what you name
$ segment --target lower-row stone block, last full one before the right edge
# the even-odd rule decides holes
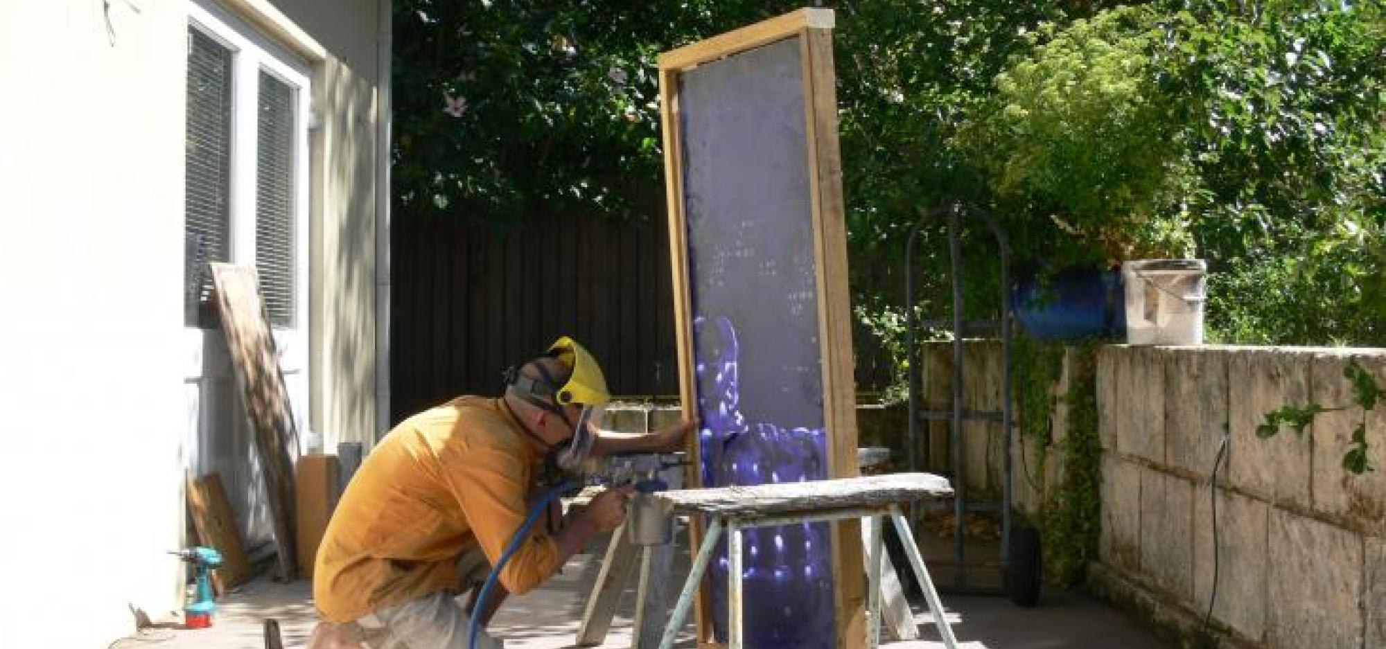
[[[1358,649],[1364,639],[1362,537],[1271,510],[1265,643]]]

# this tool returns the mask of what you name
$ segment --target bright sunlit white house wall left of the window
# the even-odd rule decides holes
[[[179,600],[186,21],[0,8],[0,646],[105,646]]]

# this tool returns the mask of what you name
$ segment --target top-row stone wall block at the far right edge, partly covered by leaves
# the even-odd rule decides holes
[[[1351,383],[1343,372],[1354,361],[1350,354],[1318,354],[1313,365],[1314,402],[1325,408],[1349,406],[1346,410],[1319,413],[1314,419],[1314,509],[1356,517],[1364,527],[1379,526],[1386,516],[1386,474],[1371,471],[1362,476],[1343,469],[1343,455],[1351,448],[1353,431],[1367,426],[1368,413],[1353,405]],[[1364,369],[1380,369],[1380,358],[1356,358]],[[1386,408],[1386,404],[1382,404]],[[1376,424],[1386,422],[1372,412]],[[1386,433],[1386,429],[1378,427]],[[1369,460],[1380,467],[1386,456],[1382,437],[1367,431]]]

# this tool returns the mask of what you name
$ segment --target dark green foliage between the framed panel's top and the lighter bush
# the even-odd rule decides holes
[[[979,161],[949,144],[994,78],[1044,22],[1091,3],[873,0],[839,8],[837,76],[848,230],[857,251],[898,258],[920,211],[984,204]]]

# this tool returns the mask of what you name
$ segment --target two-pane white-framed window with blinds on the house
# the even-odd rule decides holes
[[[184,322],[216,326],[209,262],[254,263],[276,329],[298,329],[309,78],[234,17],[195,3],[187,28]]]

